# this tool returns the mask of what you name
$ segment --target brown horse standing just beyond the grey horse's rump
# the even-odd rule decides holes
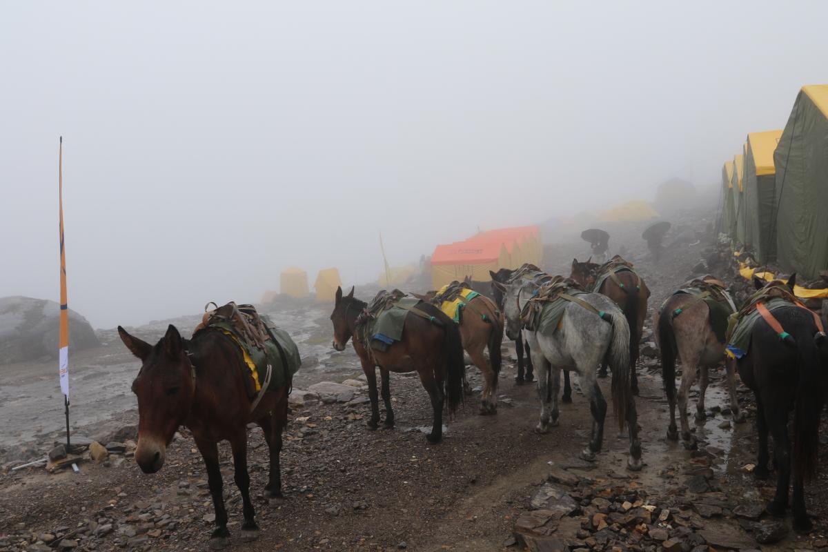
[[[600,265],[596,265],[590,260],[578,262],[578,259],[572,259],[570,278],[584,286],[586,290],[592,290],[595,286],[595,280],[599,276],[599,268]],[[615,275],[618,276],[623,287],[619,286],[613,278],[607,278],[601,284],[600,289],[595,290],[595,292],[614,300],[627,319],[629,325],[630,383],[633,388],[633,395],[638,395],[636,364],[640,354],[639,347],[644,330],[644,319],[647,317],[647,299],[650,297],[650,290],[647,288],[647,284],[644,283],[643,278],[640,278],[634,272],[619,271]],[[601,366],[599,377],[607,377],[606,362]]]

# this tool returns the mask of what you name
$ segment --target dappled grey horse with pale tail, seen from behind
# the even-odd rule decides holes
[[[575,370],[580,376],[581,389],[590,401],[592,432],[590,444],[580,456],[595,460],[604,441],[604,417],[607,402],[595,376],[604,358],[613,371],[612,396],[619,430],[626,422],[629,430],[629,458],[627,466],[633,471],[642,468],[641,443],[638,440],[638,414],[629,378],[629,326],[623,312],[604,295],[578,295],[596,310],[603,311],[609,321],[592,310],[570,303],[566,305],[561,323],[545,333],[523,329],[522,306],[538,289],[535,281],[518,277],[506,284],[496,282],[503,291],[503,310],[506,316],[506,334],[510,339],[526,338],[532,350],[532,364],[537,374],[537,393],[541,399],[541,420],[538,433],[546,433],[558,425],[558,391],[561,387],[561,369]]]

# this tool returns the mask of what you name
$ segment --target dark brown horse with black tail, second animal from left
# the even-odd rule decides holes
[[[431,433],[426,435],[429,443],[439,443],[443,437],[443,406],[448,400],[449,412],[454,413],[463,400],[463,345],[460,330],[454,320],[434,305],[421,303],[417,306],[434,321],[409,312],[402,331],[402,340],[393,343],[387,351],[380,352],[363,343],[357,333],[357,318],[368,304],[354,297],[354,288],[348,295],[342,295],[342,288],[336,289],[336,304],[330,315],[334,323],[334,348],[344,351],[348,340],[353,338],[354,350],[359,355],[365,377],[368,378],[368,396],[371,399],[371,419],[368,428],[379,427],[379,404],[377,396],[377,367],[383,377],[383,402],[385,403],[385,427],[394,426],[394,410],[391,407],[391,389],[388,372],[416,371],[422,386],[426,388],[434,410]]]

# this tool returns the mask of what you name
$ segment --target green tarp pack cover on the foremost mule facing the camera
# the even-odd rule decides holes
[[[290,385],[293,375],[299,372],[302,360],[299,355],[299,348],[293,339],[291,339],[291,336],[285,330],[277,328],[266,315],[262,314],[260,318],[278,344],[273,343],[272,339],[267,339],[265,341],[266,350],[262,351],[262,349],[254,345],[245,346],[243,339],[236,338],[234,341],[239,347],[243,347],[248,355],[250,355],[250,358],[253,359],[253,363],[256,365],[256,372],[258,372],[258,377],[261,380],[259,382],[260,386],[264,384],[264,378],[267,375],[267,364],[270,364],[272,369],[270,385],[267,386],[267,391],[275,391]],[[235,334],[233,324],[229,322],[213,322],[209,326]],[[280,348],[282,349],[281,353]],[[282,353],[284,353],[285,362],[282,362]]]

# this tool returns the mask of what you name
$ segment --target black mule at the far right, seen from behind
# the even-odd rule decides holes
[[[796,275],[787,286],[793,292]],[[754,279],[761,289],[766,282]],[[768,286],[780,284],[770,282]],[[793,478],[793,526],[799,531],[811,529],[805,507],[804,482],[813,479],[817,468],[820,417],[826,397],[826,338],[804,307],[791,304],[773,310],[773,317],[787,334],[784,340],[764,320],[758,319],[751,330],[750,347],[737,366],[742,382],[756,397],[758,458],[754,476],[768,478],[768,433],[773,435],[773,465],[777,470],[777,487],[768,511],[784,516]],[[788,435],[788,418],[793,412],[793,447]]]

